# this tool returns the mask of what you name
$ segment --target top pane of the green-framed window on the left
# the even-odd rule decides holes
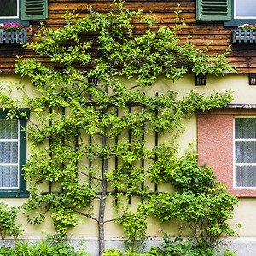
[[[0,120],[0,139],[18,139],[18,120]]]

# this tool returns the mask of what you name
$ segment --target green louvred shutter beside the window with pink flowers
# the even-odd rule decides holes
[[[21,0],[21,20],[44,20],[47,17],[47,0]]]

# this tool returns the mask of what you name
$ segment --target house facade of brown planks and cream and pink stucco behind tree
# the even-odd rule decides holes
[[[3,2],[3,1],[2,1]],[[75,9],[79,16],[88,14],[88,9],[96,9],[107,13],[111,9],[111,1],[75,1],[75,0],[9,0],[2,3],[0,22],[17,22],[22,25],[19,33],[0,32],[0,79],[5,82],[26,84],[32,95],[33,84],[25,77],[15,74],[16,55],[24,58],[43,57],[35,55],[30,49],[23,48],[19,42],[31,42],[38,31],[41,22],[49,28],[58,28],[65,25],[61,18],[67,10]],[[256,20],[256,3],[253,0],[181,0],[181,1],[133,1],[127,0],[124,5],[128,9],[143,9],[145,13],[152,11],[159,26],[172,26],[174,24],[174,11],[180,4],[181,18],[186,26],[178,32],[181,40],[189,38],[196,48],[206,47],[210,42],[209,54],[223,52],[230,47],[227,56],[230,65],[236,68],[237,73],[227,73],[224,77],[213,75],[198,75],[193,73],[184,75],[176,82],[157,79],[155,84],[148,88],[147,93],[166,93],[172,88],[179,96],[187,94],[190,90],[209,95],[212,91],[224,92],[233,90],[234,100],[228,108],[198,112],[189,119],[187,129],[179,139],[181,152],[190,142],[196,144],[201,163],[207,162],[217,173],[218,179],[227,187],[231,195],[239,198],[239,207],[235,209],[235,218],[232,224],[240,223],[242,228],[237,230],[238,238],[231,238],[233,247],[238,255],[254,255],[256,252],[256,30],[243,30],[238,26],[252,25]],[[135,24],[137,34],[143,32],[143,27]],[[26,109],[26,112],[29,110]],[[26,181],[22,176],[22,165],[29,155],[29,144],[26,143],[24,131],[26,121],[20,117],[13,122],[6,122],[6,113],[0,115],[3,120],[0,127],[0,143],[9,144],[8,156],[3,156],[0,172],[1,201],[9,205],[21,205],[29,196]],[[0,135],[1,137],[1,135]],[[5,150],[5,149],[4,149]],[[8,175],[6,174],[8,173]],[[164,187],[162,189],[165,189]],[[134,202],[136,204],[137,202]],[[107,211],[108,212],[108,211]],[[109,211],[110,212],[110,211]],[[107,213],[108,214],[108,213]],[[109,213],[110,214],[110,213]],[[111,217],[111,216],[110,216]],[[24,236],[33,240],[41,236],[41,231],[54,232],[50,218],[35,227],[26,224],[26,218],[20,216],[20,222],[26,225]],[[155,234],[160,223],[153,222],[148,227],[148,234]],[[88,231],[90,230],[90,232]],[[168,224],[166,232],[173,236],[177,234],[176,224]],[[97,229],[96,224],[88,222],[73,228],[73,240],[84,236],[88,241],[89,250],[96,254]],[[124,236],[122,229],[115,224],[106,224],[107,247],[119,247]],[[157,241],[154,241],[157,243]]]

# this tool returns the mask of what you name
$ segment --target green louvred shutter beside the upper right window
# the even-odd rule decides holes
[[[231,20],[231,0],[197,0],[196,20]]]

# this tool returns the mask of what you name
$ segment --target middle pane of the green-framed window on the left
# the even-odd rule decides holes
[[[18,163],[18,142],[0,142],[0,163]]]

